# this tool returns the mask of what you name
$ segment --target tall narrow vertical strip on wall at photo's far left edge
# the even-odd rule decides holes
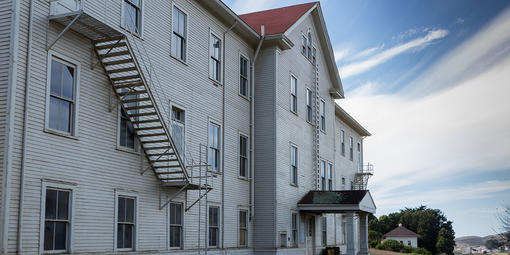
[[[5,129],[5,145],[2,165],[2,210],[0,212],[0,253],[7,254],[9,234],[9,198],[12,170],[12,150],[14,139],[14,113],[16,105],[16,81],[18,65],[18,31],[20,1],[12,0],[11,31],[9,46],[9,74],[7,78],[7,116]]]

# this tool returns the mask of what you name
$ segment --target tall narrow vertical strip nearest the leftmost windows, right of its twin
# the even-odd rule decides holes
[[[30,64],[32,62],[32,26],[34,16],[34,0],[30,0],[29,17],[28,17],[28,38],[27,38],[27,63],[25,72],[25,104],[23,116],[23,142],[22,142],[22,156],[21,156],[21,173],[20,173],[20,200],[18,211],[18,254],[23,254],[23,210],[25,200],[25,171],[27,159],[27,136],[28,136],[28,107],[30,99]]]

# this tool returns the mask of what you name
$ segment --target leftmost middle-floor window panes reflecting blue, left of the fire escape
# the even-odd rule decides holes
[[[75,86],[76,67],[53,59],[50,78],[49,128],[73,134]]]

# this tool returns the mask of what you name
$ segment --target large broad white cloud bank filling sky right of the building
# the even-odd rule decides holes
[[[508,181],[424,193],[413,189],[465,173],[510,168],[510,9],[501,17],[408,90],[381,95],[376,83],[367,83],[340,102],[374,134],[365,140],[365,159],[375,164],[371,189],[378,206],[409,206],[417,199],[447,202],[510,189]],[[494,52],[502,53],[493,57]],[[424,92],[449,82],[435,93]],[[410,97],[413,93],[419,96]]]

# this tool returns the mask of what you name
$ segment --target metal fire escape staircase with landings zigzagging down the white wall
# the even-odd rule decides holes
[[[50,50],[68,29],[89,38],[99,59],[96,65],[101,65],[108,76],[121,108],[133,125],[139,145],[149,162],[149,166],[142,169],[142,174],[152,169],[162,186],[179,188],[174,197],[163,204],[160,201],[160,209],[186,190],[200,190],[198,197],[200,200],[203,197],[202,190],[205,194],[211,190],[207,182],[203,184],[201,180],[208,177],[208,174],[205,176],[202,174],[202,155],[198,163],[199,176],[190,177],[165,121],[165,117],[170,117],[170,113],[167,112],[169,109],[163,108],[167,110],[163,115],[160,111],[162,108],[158,106],[158,102],[164,103],[168,100],[161,98],[162,93],[152,91],[152,88],[158,86],[159,89],[162,88],[152,64],[144,62],[144,57],[150,61],[146,49],[143,45],[139,46],[137,39],[130,33],[122,33],[87,14],[83,10],[83,3],[82,0],[50,1],[49,20],[63,25],[64,28],[52,42],[48,43],[47,50]],[[131,42],[136,49],[132,47]],[[137,55],[140,58],[137,58]],[[188,167],[193,171],[195,166]]]

